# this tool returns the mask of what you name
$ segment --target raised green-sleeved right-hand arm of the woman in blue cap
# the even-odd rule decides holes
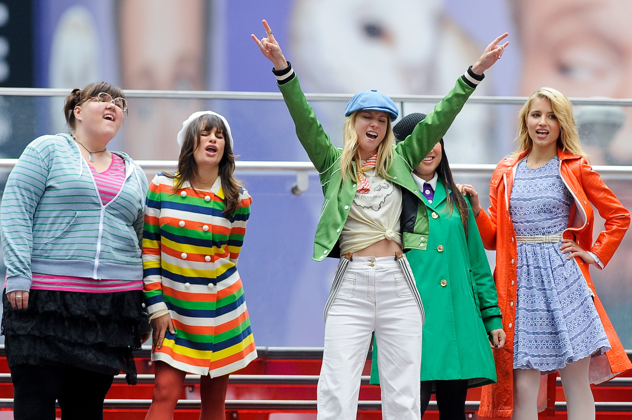
[[[428,113],[425,119],[417,124],[413,133],[406,140],[398,144],[398,153],[411,168],[417,167],[422,159],[430,153],[434,145],[446,134],[466,100],[485,77],[483,72],[501,58],[505,47],[509,45],[509,41],[502,45],[498,44],[507,35],[509,34],[503,33],[487,45],[478,61],[463,76],[459,77],[453,90]]]

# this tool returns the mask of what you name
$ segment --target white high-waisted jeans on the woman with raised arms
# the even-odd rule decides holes
[[[373,332],[379,349],[382,419],[419,420],[422,327],[420,306],[398,261],[392,256],[353,257],[325,322],[318,420],[356,418],[360,376]]]

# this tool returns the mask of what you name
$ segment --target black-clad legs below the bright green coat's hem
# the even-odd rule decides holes
[[[435,385],[439,420],[465,420],[465,399],[468,396],[468,380],[422,381],[422,417],[428,408],[432,384]]]

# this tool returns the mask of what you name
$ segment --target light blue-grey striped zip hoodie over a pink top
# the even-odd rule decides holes
[[[125,183],[103,205],[92,171],[68,134],[33,140],[9,174],[0,206],[6,291],[32,273],[140,280],[145,172],[122,152]]]

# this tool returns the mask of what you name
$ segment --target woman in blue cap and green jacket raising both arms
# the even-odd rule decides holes
[[[391,129],[398,116],[392,100],[376,91],[356,94],[345,110],[344,148],[336,148],[305,99],[272,30],[263,23],[267,38],[252,38],[274,63],[272,71],[296,135],[320,173],[325,195],[313,259],[340,258],[325,306],[318,418],[356,418],[360,375],[375,332],[383,417],[418,420],[423,306],[403,251],[426,249],[432,232],[411,172],[446,133],[483,80],[483,71],[501,57],[508,43],[497,44],[507,34],[485,49],[454,89],[398,145]],[[418,212],[402,220],[404,201],[411,198],[420,201]]]

